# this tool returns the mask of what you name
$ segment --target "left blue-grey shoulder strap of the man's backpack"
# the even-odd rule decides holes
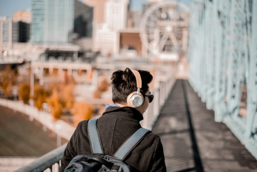
[[[88,120],[88,137],[92,153],[103,153],[100,137],[97,131],[97,119]]]

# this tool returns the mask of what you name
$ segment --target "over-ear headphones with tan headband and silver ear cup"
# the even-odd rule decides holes
[[[140,88],[142,88],[142,80],[140,73],[137,70],[132,70],[133,74],[136,77],[136,87],[137,91],[130,93],[127,97],[127,105],[131,107],[140,107],[144,102],[144,97],[140,93]]]

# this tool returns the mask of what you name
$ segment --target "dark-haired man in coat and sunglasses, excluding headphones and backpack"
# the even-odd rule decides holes
[[[106,105],[105,112],[98,119],[97,127],[102,141],[104,154],[113,156],[125,140],[141,127],[143,113],[148,108],[153,96],[150,95],[149,83],[153,76],[148,71],[138,70],[141,77],[140,93],[143,96],[143,104],[133,108],[128,106],[127,97],[137,91],[137,81],[129,68],[125,71],[118,70],[112,74],[112,100],[114,104]],[[91,153],[88,133],[88,121],[81,121],[64,151],[59,171],[64,171],[72,158],[77,155],[89,155]],[[128,154],[124,162],[132,168],[132,171],[166,171],[164,154],[160,137],[152,132],[137,144]]]

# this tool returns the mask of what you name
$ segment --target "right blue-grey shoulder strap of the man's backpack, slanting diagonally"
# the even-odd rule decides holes
[[[136,146],[142,137],[150,130],[139,128],[131,137],[125,141],[121,147],[115,152],[114,157],[124,160],[125,156]]]

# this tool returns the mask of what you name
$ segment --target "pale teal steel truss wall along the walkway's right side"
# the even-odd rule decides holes
[[[257,159],[257,0],[190,2],[188,80]]]

